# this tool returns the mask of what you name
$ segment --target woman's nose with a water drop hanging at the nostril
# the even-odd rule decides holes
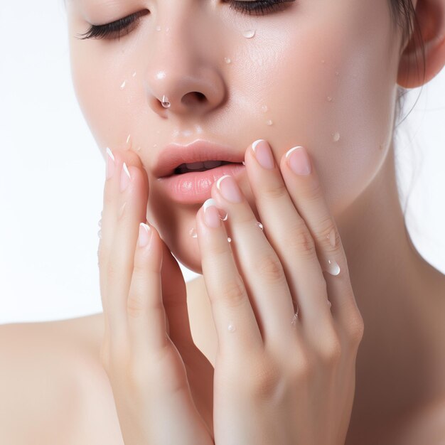
[[[162,117],[208,113],[220,106],[226,95],[219,69],[220,48],[207,35],[211,32],[209,18],[190,2],[178,1],[168,10],[167,4],[163,4],[163,11],[157,11],[159,20],[154,20],[160,31],[153,30],[147,62],[149,106]]]

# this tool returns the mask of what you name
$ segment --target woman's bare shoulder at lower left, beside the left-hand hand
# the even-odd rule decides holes
[[[0,325],[0,443],[122,445],[103,314]]]

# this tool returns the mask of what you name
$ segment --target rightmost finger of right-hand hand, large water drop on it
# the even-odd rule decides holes
[[[345,250],[324,198],[316,168],[304,147],[289,150],[283,156],[280,166],[291,200],[315,242],[331,302],[331,313],[338,323],[348,328],[351,321],[360,318],[360,313],[350,283]],[[297,174],[300,168],[309,173]]]

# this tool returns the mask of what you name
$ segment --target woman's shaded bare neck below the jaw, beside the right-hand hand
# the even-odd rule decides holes
[[[443,378],[434,373],[445,369],[445,277],[420,256],[407,233],[392,148],[372,183],[336,223],[365,323],[353,416],[366,412],[372,422],[371,413],[390,417],[402,407],[431,401],[438,385],[444,389]]]

